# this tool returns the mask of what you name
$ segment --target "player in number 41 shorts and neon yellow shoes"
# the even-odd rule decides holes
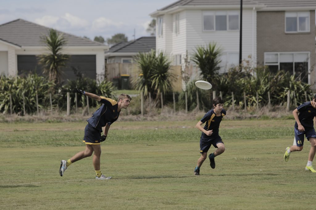
[[[294,143],[293,146],[287,147],[284,153],[284,160],[289,161],[291,152],[302,151],[304,145],[304,134],[307,140],[311,143],[311,149],[308,154],[308,161],[305,170],[315,173],[313,168],[313,159],[316,152],[316,133],[314,124],[316,120],[316,94],[313,96],[312,101],[302,103],[293,111],[295,118],[294,125]]]

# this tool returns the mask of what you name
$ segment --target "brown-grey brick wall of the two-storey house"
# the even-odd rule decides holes
[[[264,64],[264,52],[310,52],[315,64],[315,10],[310,11],[310,32],[285,33],[285,11],[257,12],[257,62]],[[316,72],[311,73],[311,84]],[[316,86],[313,87],[316,89]]]

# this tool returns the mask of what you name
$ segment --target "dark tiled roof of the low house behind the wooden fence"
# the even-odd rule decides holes
[[[109,53],[149,52],[156,49],[156,37],[141,37],[129,42],[120,42],[110,48]]]

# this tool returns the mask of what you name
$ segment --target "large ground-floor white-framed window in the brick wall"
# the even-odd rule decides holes
[[[279,70],[284,70],[310,84],[308,70],[310,52],[265,52],[264,65],[268,66],[271,72],[276,73]]]

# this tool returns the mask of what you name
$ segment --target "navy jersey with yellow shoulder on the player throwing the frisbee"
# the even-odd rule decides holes
[[[101,97],[102,106],[98,108],[87,121],[96,130],[102,132],[102,127],[111,125],[119,118],[118,102],[111,98]]]

